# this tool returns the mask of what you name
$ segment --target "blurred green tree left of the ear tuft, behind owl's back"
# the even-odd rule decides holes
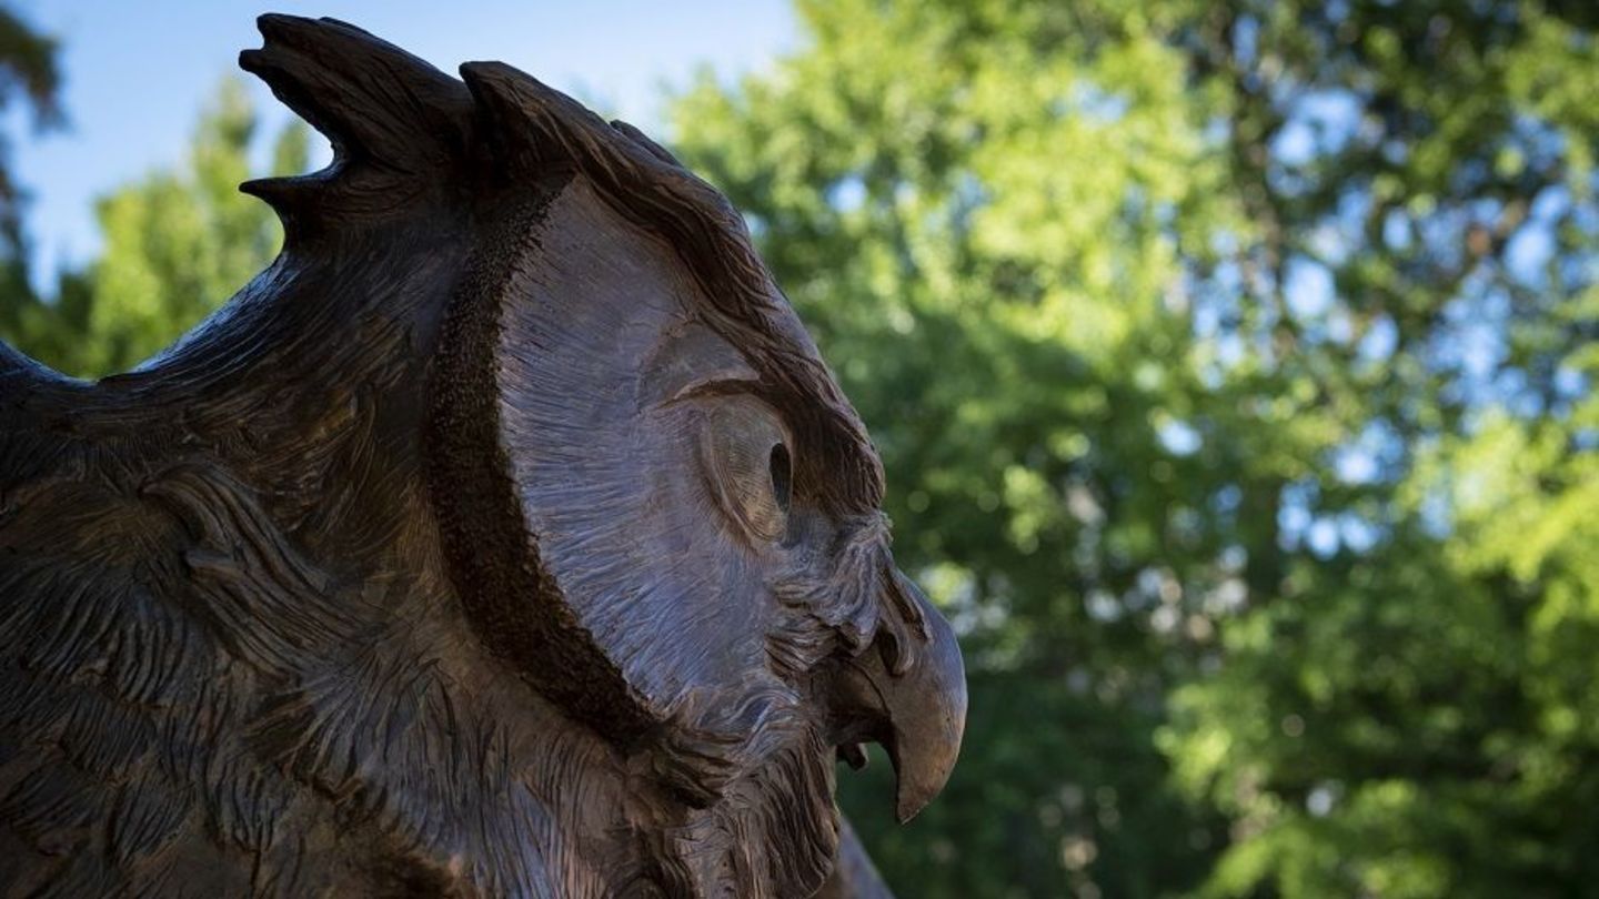
[[[69,374],[110,374],[166,347],[232,296],[281,245],[272,210],[238,192],[251,178],[256,133],[243,83],[222,82],[182,171],[155,171],[102,197],[101,258],[66,275],[54,301],[16,310],[8,338]],[[305,126],[286,126],[269,171],[304,171],[305,160]]]

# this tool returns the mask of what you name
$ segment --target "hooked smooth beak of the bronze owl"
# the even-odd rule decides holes
[[[908,657],[891,665],[887,653],[867,651],[843,670],[841,694],[852,707],[860,736],[883,744],[897,779],[895,813],[900,822],[916,816],[950,779],[966,731],[966,667],[950,624],[905,574],[895,573],[900,600],[911,603],[923,627]],[[878,649],[883,649],[881,646]],[[895,673],[895,669],[900,669]],[[854,755],[846,750],[844,757]]]

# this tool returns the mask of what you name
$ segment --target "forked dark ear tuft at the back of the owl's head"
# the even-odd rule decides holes
[[[333,144],[333,165],[241,186],[285,222],[289,240],[329,219],[405,206],[470,147],[472,98],[422,59],[337,19],[265,14],[264,45],[238,66]]]

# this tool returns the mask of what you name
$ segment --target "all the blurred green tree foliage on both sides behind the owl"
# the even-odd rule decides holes
[[[1599,896],[1599,5],[798,21],[660,122],[963,637],[943,797],[895,827],[881,760],[843,777],[899,894]],[[58,120],[59,56],[0,18],[13,112]],[[0,336],[120,371],[270,261],[235,186],[310,150],[249,98],[109,192],[82,266],[29,272],[0,182]]]

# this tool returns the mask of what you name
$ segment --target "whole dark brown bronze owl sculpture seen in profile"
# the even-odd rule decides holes
[[[331,19],[334,147],[138,370],[0,344],[0,893],[881,894],[966,717],[865,429],[739,214],[632,126]],[[831,878],[831,880],[830,880]]]

